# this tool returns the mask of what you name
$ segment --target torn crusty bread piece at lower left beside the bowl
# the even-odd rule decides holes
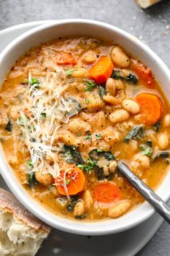
[[[0,189],[0,255],[33,256],[50,227],[35,218],[20,202]]]

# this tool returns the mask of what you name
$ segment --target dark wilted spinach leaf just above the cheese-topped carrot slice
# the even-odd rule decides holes
[[[64,145],[63,146],[63,157],[66,158],[66,162],[68,163],[75,163],[84,164],[83,159],[81,158],[81,154],[79,150],[73,145]]]

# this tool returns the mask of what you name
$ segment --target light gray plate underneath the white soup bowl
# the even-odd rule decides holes
[[[30,22],[0,31],[0,52],[18,35],[43,22]],[[0,176],[0,187],[8,189]],[[162,218],[157,214],[129,231],[106,236],[80,236],[53,229],[37,256],[133,256],[156,233]]]

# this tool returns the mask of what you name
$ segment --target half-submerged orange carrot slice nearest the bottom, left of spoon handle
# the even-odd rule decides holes
[[[120,189],[111,182],[102,182],[94,189],[94,199],[99,202],[114,202],[120,199]]]

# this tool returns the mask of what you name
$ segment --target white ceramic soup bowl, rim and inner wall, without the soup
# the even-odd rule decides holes
[[[12,41],[0,55],[0,84],[3,81],[6,72],[12,67],[14,61],[21,56],[24,51],[36,44],[51,40],[54,38],[68,35],[90,35],[91,37],[100,37],[108,40],[114,40],[120,43],[133,56],[138,57],[143,63],[148,64],[156,75],[156,79],[161,82],[162,88],[166,95],[170,95],[170,72],[163,61],[151,51],[148,46],[142,43],[134,35],[130,35],[117,27],[108,25],[103,22],[93,20],[61,20],[51,22],[36,27],[28,32],[20,35]],[[35,200],[27,194],[24,188],[19,184],[12,168],[6,162],[3,150],[0,150],[0,170],[6,184],[13,194],[30,212],[35,214],[45,223],[56,229],[68,231],[74,234],[100,235],[118,233],[131,229],[149,218],[154,210],[144,202],[138,208],[131,210],[129,213],[117,219],[106,221],[73,221],[61,216],[55,216],[45,208],[42,208]],[[168,200],[170,197],[170,172],[156,190],[157,194],[163,199]]]

